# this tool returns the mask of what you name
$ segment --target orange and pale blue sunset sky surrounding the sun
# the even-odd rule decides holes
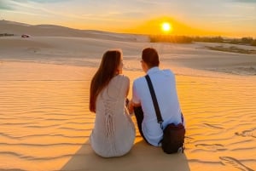
[[[0,20],[82,30],[256,37],[256,0],[0,0]]]

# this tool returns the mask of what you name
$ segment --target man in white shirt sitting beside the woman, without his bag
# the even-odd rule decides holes
[[[164,120],[163,128],[166,128],[168,123],[183,123],[177,99],[175,76],[172,71],[160,70],[159,55],[154,48],[143,49],[141,62],[143,71],[148,74],[153,84],[160,113]],[[139,77],[133,82],[132,99],[128,109],[130,113],[134,111],[143,139],[150,145],[160,146],[163,130],[160,123],[157,122],[153,100],[145,77]]]

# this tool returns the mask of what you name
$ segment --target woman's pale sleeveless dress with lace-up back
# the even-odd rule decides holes
[[[118,75],[96,99],[96,120],[90,145],[101,157],[120,157],[131,150],[135,126],[125,108],[128,77]]]

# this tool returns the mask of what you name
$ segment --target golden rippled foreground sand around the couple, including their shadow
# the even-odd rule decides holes
[[[177,75],[187,123],[184,154],[166,155],[146,145],[137,132],[128,155],[103,159],[88,140],[95,118],[88,110],[94,71],[95,67],[0,63],[0,170],[256,169],[255,77]],[[124,72],[131,82],[143,75]]]

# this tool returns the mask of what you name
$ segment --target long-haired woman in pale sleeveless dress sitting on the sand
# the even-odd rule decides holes
[[[90,111],[96,113],[90,145],[101,157],[120,157],[131,150],[135,127],[125,107],[130,79],[122,74],[120,50],[108,50],[90,83]]]

